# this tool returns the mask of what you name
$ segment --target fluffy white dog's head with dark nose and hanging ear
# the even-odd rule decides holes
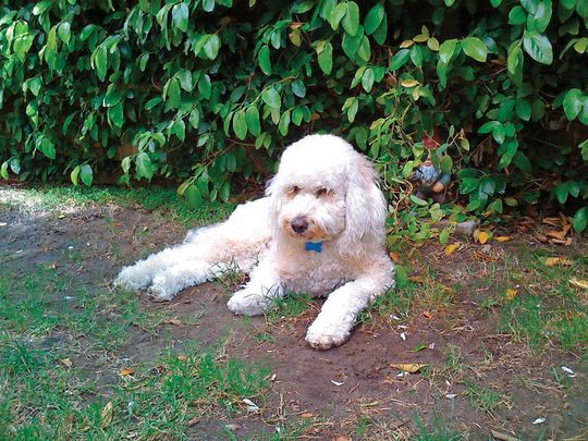
[[[284,150],[270,182],[278,240],[336,241],[341,257],[362,257],[383,240],[385,201],[370,162],[345,140],[311,135]]]

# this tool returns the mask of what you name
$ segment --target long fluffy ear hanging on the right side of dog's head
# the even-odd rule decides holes
[[[383,244],[387,203],[367,158],[356,154],[347,176],[345,231],[338,250],[342,258],[358,259],[365,256],[368,245]]]

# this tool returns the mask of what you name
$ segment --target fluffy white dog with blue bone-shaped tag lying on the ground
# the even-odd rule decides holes
[[[256,316],[287,292],[328,295],[306,341],[320,350],[342,344],[358,314],[394,285],[387,204],[370,162],[342,138],[306,136],[284,150],[266,195],[124,268],[115,283],[169,301],[236,265],[250,281],[229,309]]]

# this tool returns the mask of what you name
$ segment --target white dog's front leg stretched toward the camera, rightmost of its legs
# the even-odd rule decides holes
[[[393,286],[392,273],[366,274],[333,291],[308,328],[306,341],[316,350],[339,346],[347,340],[359,313]]]

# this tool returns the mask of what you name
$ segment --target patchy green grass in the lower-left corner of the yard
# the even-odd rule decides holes
[[[54,269],[1,274],[0,439],[183,438],[193,418],[264,402],[269,368],[218,348],[187,342],[121,364],[131,335],[155,334],[164,319],[134,295],[91,291]]]

